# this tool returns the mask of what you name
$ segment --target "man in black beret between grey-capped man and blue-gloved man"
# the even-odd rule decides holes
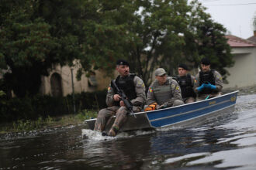
[[[178,65],[178,76],[175,76],[174,79],[177,80],[178,85],[182,90],[182,98],[185,104],[195,102],[196,94],[194,92],[194,82],[195,76],[192,76],[188,73],[188,66],[184,63]]]

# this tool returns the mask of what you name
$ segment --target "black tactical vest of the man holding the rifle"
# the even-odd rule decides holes
[[[123,92],[126,94],[126,97],[128,97],[129,100],[137,98],[137,93],[135,91],[135,86],[133,83],[135,76],[136,74],[130,74],[130,76],[126,76],[125,78],[122,77],[122,79],[120,79],[120,76],[117,76],[116,78],[117,87],[119,87],[120,90],[123,90]],[[113,89],[114,93],[117,93],[116,89]],[[115,105],[119,106],[119,101],[115,101]]]

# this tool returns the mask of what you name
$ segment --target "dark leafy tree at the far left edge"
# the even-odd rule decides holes
[[[50,36],[50,26],[43,19],[32,20],[33,1],[1,1],[0,61],[5,87],[17,96],[37,93],[40,75],[57,58],[51,53],[57,48],[56,39]]]

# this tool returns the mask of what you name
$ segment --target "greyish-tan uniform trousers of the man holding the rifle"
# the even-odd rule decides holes
[[[141,110],[141,107],[133,106],[133,112],[139,112],[140,110]],[[128,110],[126,109],[126,107],[118,107],[118,106],[107,107],[102,110],[99,110],[97,120],[95,121],[94,130],[104,131],[106,128],[107,121],[113,115],[116,115],[116,119],[112,126],[117,126],[118,128],[121,128],[121,126],[127,120],[127,112]]]

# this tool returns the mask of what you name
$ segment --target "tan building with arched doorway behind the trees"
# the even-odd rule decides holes
[[[72,69],[72,70],[71,70]],[[67,96],[72,93],[72,72],[74,93],[92,92],[95,90],[106,89],[110,82],[110,77],[107,77],[99,70],[91,72],[88,77],[81,76],[81,80],[76,79],[78,68],[70,66],[55,66],[49,76],[42,76],[42,84],[40,93],[50,94],[55,97]]]

